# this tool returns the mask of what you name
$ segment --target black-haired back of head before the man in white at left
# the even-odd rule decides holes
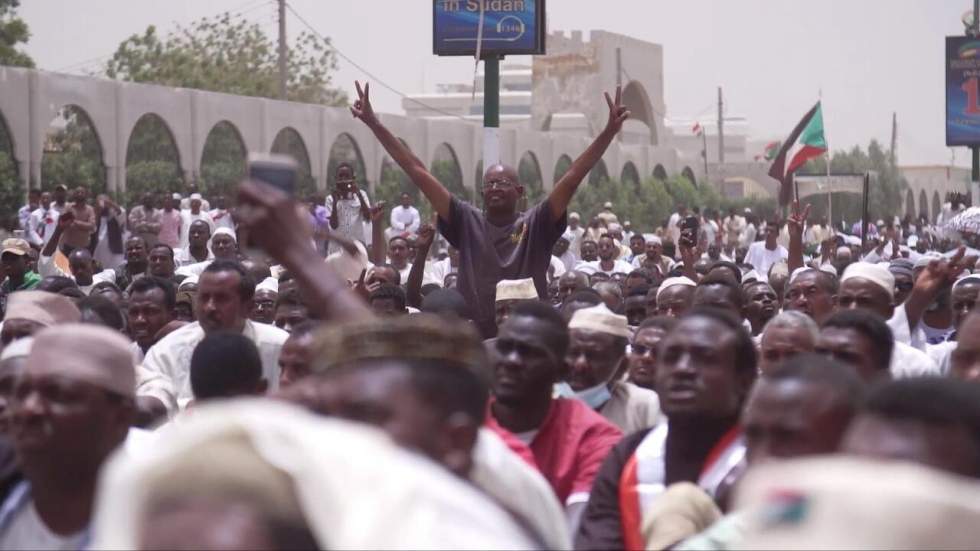
[[[262,380],[259,350],[240,333],[209,333],[191,354],[190,379],[196,400],[250,394]]]

